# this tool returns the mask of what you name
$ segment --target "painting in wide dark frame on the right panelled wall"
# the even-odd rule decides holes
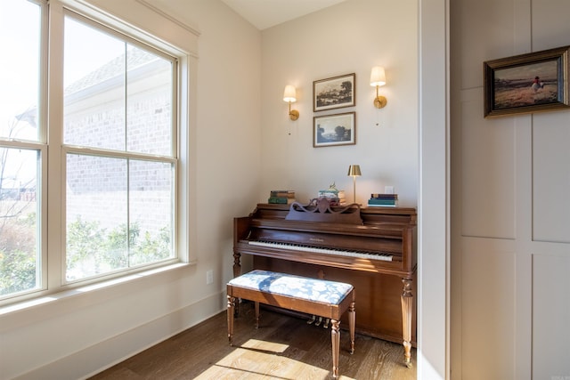
[[[568,108],[568,49],[485,61],[485,117]]]

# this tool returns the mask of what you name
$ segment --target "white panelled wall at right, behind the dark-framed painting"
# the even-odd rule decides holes
[[[484,61],[568,44],[570,3],[452,1],[452,378],[570,377],[570,111],[485,119]]]

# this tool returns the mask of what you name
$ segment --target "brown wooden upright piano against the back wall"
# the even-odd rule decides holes
[[[411,366],[416,339],[415,208],[257,204],[234,218],[233,275],[240,256],[255,269],[350,283],[356,294],[356,331],[403,344]],[[344,322],[346,323],[346,321]]]

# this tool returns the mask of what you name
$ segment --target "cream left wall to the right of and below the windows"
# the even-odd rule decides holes
[[[162,15],[140,1],[90,1],[111,13],[126,10],[134,26],[167,38],[175,30],[189,32],[183,23],[199,30],[189,78],[188,165],[196,177],[187,187],[196,263],[0,313],[2,379],[81,378],[224,310],[232,218],[247,214],[257,200],[259,31],[219,1],[152,1],[164,7]],[[180,22],[168,20],[169,14]],[[207,286],[208,270],[214,271],[214,284]]]

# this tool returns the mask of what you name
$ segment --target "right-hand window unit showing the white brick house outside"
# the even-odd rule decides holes
[[[66,280],[173,258],[175,61],[72,14],[63,47]]]

